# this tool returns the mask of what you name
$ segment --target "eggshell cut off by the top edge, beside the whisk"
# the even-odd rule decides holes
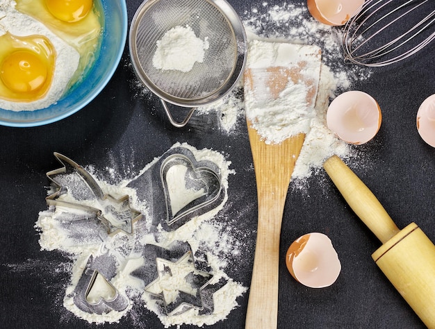
[[[359,12],[364,0],[308,0],[311,15],[320,23],[339,26]]]

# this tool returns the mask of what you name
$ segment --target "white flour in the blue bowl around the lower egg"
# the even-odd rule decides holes
[[[80,54],[49,31],[44,24],[15,10],[15,1],[0,0],[0,35],[4,35],[6,32],[20,37],[44,35],[56,50],[56,62],[51,86],[42,99],[30,102],[0,99],[0,108],[13,111],[32,111],[48,108],[51,104],[56,103],[67,91],[69,80],[79,67]]]

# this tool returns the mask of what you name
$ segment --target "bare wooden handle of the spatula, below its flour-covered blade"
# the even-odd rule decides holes
[[[279,238],[288,185],[304,134],[265,144],[248,121],[257,186],[258,227],[246,329],[274,329],[278,319]]]

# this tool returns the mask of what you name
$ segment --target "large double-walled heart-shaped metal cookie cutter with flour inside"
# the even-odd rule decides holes
[[[193,217],[216,201],[222,189],[220,177],[209,167],[183,154],[168,156],[160,171],[165,192],[167,224]]]

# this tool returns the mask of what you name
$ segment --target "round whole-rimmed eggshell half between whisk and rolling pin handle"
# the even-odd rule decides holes
[[[364,144],[377,134],[381,127],[381,109],[375,99],[353,90],[343,92],[329,104],[327,126],[341,140],[351,144]]]

